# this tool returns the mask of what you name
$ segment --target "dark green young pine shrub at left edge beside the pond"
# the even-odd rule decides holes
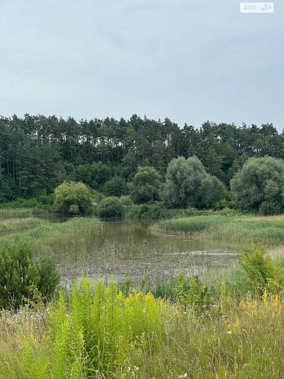
[[[50,298],[58,284],[55,262],[47,252],[39,262],[34,262],[33,246],[29,242],[0,246],[0,306],[19,308],[24,299],[32,299],[31,285]]]

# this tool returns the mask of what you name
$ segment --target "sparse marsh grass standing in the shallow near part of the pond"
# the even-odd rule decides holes
[[[70,279],[80,277],[83,271],[93,279],[97,278],[98,272],[105,280],[111,274],[118,282],[131,278],[135,288],[139,288],[140,281],[148,274],[148,284],[154,288],[158,274],[169,279],[181,267],[181,263],[190,275],[192,271],[198,274],[206,270],[215,259],[208,251],[190,251],[186,241],[178,246],[135,241],[131,237],[122,242],[104,239],[99,233],[82,235],[82,238],[72,239],[68,244],[61,241],[56,244],[54,240],[50,249],[55,256],[62,284],[67,286]],[[226,259],[234,259],[234,255],[224,259],[226,264]]]

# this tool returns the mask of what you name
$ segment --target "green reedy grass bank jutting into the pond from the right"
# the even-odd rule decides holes
[[[185,234],[231,241],[254,240],[278,245],[284,241],[284,216],[193,216],[161,220],[153,230],[166,234]]]

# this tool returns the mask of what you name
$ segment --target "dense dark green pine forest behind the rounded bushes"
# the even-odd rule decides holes
[[[272,124],[237,127],[205,122],[183,128],[136,114],[128,121],[67,120],[42,115],[0,118],[0,201],[51,193],[64,180],[99,188],[118,175],[132,180],[139,165],[153,166],[165,180],[169,162],[196,155],[209,174],[229,187],[249,157],[284,159],[284,132]]]

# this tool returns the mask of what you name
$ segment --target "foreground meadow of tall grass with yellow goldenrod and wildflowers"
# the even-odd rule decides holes
[[[83,278],[48,307],[3,311],[0,376],[24,378],[276,378],[284,370],[279,299],[218,301],[184,310],[151,294]]]

